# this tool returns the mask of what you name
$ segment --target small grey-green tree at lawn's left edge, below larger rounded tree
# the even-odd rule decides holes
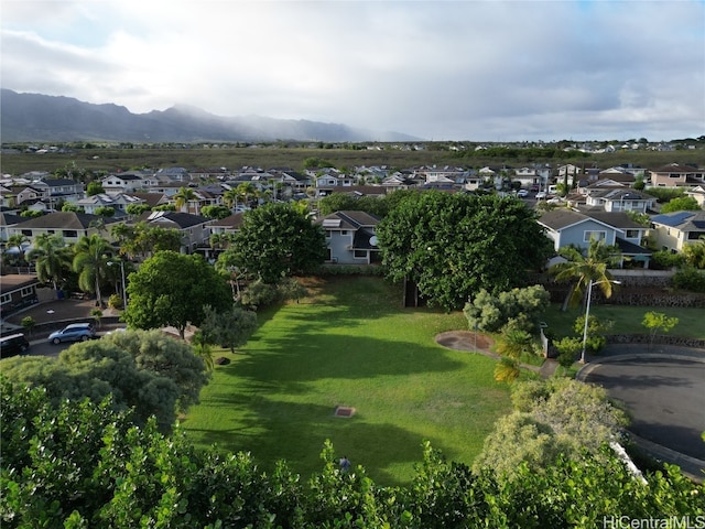
[[[210,305],[204,306],[205,317],[200,331],[206,343],[227,347],[230,353],[245,345],[257,330],[257,313],[246,311],[239,306],[231,306],[229,311],[216,311]]]

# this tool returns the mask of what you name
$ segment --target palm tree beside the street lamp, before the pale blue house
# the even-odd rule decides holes
[[[621,258],[617,246],[608,246],[604,240],[590,239],[586,255],[583,255],[579,248],[572,246],[561,248],[560,253],[567,261],[553,264],[549,272],[555,276],[558,282],[575,281],[563,304],[564,311],[568,304],[576,305],[585,298],[590,282],[599,284],[605,298],[611,298],[612,274],[608,269]]]

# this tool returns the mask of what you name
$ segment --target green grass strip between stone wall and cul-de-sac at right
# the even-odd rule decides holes
[[[561,312],[561,304],[553,303],[543,319],[556,336],[577,335],[579,333],[575,333],[573,325],[575,320],[584,314],[584,311],[585,309],[578,305],[570,307],[566,312]],[[649,330],[641,324],[647,312],[660,312],[669,317],[679,319],[679,324],[668,333],[669,335],[705,339],[705,325],[703,325],[705,311],[703,309],[590,304],[590,314],[600,320],[615,322],[611,330],[614,334],[649,334]]]

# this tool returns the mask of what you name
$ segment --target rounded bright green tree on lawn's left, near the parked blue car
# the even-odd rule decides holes
[[[130,327],[200,325],[204,305],[226,311],[232,303],[227,280],[198,255],[162,250],[130,274],[130,304],[122,317]]]

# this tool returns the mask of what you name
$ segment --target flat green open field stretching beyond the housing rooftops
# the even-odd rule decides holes
[[[183,166],[186,169],[228,168],[236,170],[242,166],[259,166],[263,169],[288,166],[294,170],[303,170],[303,162],[307,158],[319,158],[332,162],[337,168],[350,168],[355,165],[387,165],[393,169],[408,169],[417,165],[456,165],[464,168],[482,168],[485,165],[501,165],[519,168],[522,164],[534,162],[549,162],[553,166],[563,163],[574,163],[586,168],[595,164],[599,168],[610,168],[621,163],[655,169],[666,163],[694,163],[705,165],[705,150],[681,150],[673,152],[655,151],[627,151],[611,154],[595,154],[587,158],[576,156],[571,153],[562,153],[561,158],[551,160],[538,160],[519,155],[511,159],[498,159],[489,156],[463,158],[454,151],[434,148],[433,144],[424,150],[392,149],[391,145],[380,144],[381,150],[352,150],[352,149],[318,149],[306,147],[227,147],[220,149],[205,149],[203,147],[180,148],[153,148],[153,149],[117,149],[115,147],[79,149],[72,153],[3,153],[0,160],[0,169],[3,174],[19,175],[29,171],[55,171],[69,166],[90,171],[113,172],[117,170],[130,170],[135,168],[167,168]]]

